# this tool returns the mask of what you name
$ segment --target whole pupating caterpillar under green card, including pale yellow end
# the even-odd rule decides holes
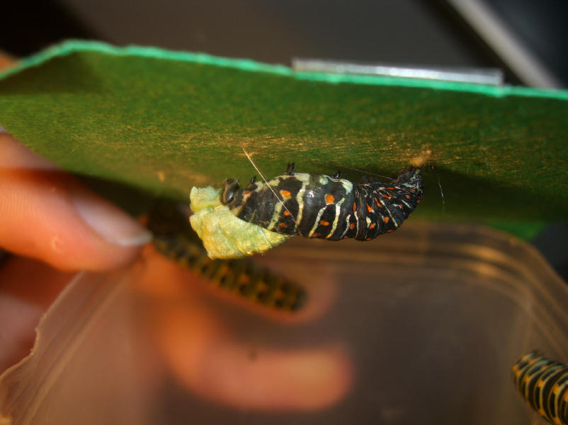
[[[210,258],[238,258],[294,235],[371,240],[399,228],[423,196],[416,167],[386,185],[366,178],[356,185],[339,171],[331,177],[295,173],[292,163],[284,175],[263,182],[253,177],[244,188],[236,179],[220,189],[193,187],[190,222]]]

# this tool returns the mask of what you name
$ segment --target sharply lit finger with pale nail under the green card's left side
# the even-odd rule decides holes
[[[151,238],[117,206],[0,132],[1,248],[59,269],[102,270],[129,262]]]

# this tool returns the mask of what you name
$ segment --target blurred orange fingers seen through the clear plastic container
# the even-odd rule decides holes
[[[154,345],[192,393],[239,410],[314,411],[336,404],[351,388],[351,356],[334,332],[319,342],[301,342],[304,330],[313,330],[336,299],[334,278],[323,263],[294,264],[295,272],[311,279],[307,304],[290,313],[212,287],[151,246],[142,258],[144,272],[135,281],[142,298],[151,300],[144,315]],[[288,265],[278,264],[278,256],[263,262],[279,270]],[[322,325],[315,326],[328,328]]]

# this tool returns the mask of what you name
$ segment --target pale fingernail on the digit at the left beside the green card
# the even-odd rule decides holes
[[[72,202],[79,216],[105,240],[123,247],[140,246],[152,240],[152,233],[117,206],[88,193],[74,194]]]

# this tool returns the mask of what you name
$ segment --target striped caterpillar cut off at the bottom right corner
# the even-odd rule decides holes
[[[513,382],[527,404],[555,425],[568,425],[568,364],[533,351],[513,365]]]

